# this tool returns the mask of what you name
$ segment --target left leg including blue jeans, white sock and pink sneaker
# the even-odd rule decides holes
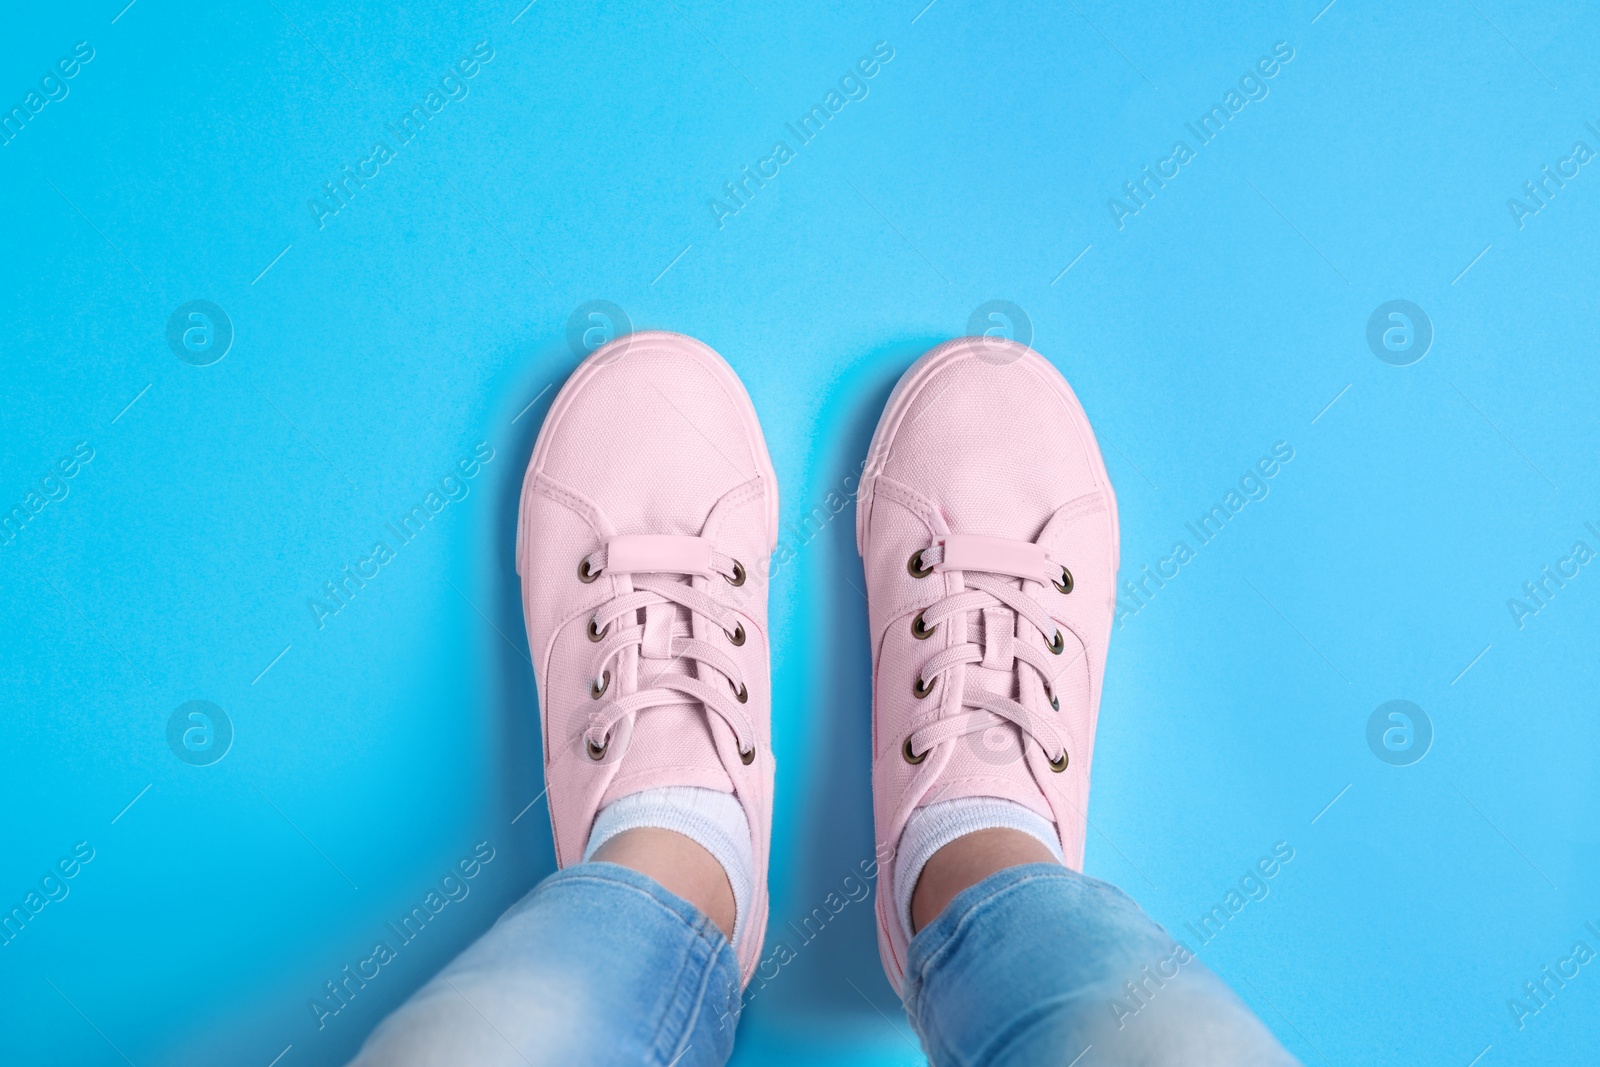
[[[720,1064],[760,960],[778,483],[733,370],[643,333],[550,403],[517,573],[557,865],[362,1067]]]

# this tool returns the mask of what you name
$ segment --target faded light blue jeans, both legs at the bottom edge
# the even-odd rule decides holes
[[[1122,889],[1002,870],[910,944],[906,1011],[938,1067],[1293,1067]],[[352,1067],[718,1065],[739,968],[706,915],[614,864],[550,875],[379,1025]]]

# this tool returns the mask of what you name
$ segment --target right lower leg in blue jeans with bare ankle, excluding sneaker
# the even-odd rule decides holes
[[[938,896],[1008,849],[958,838],[923,869]],[[1043,851],[1043,849],[1040,849]],[[960,873],[957,873],[960,872]],[[954,877],[952,877],[954,875]],[[1045,862],[1005,864],[918,923],[906,1011],[933,1064],[1029,1067],[1290,1067],[1296,1061],[1234,992],[1122,889]]]

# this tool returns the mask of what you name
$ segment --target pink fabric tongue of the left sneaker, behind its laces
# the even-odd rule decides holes
[[[640,646],[637,681],[630,693],[659,685],[664,675],[688,675],[694,661],[680,653],[690,638],[690,616],[678,605],[650,605],[645,614],[645,640]],[[722,766],[717,744],[699,701],[646,707],[634,718],[634,733],[618,776],[611,779],[600,803],[662,785],[699,785],[731,793],[733,779]]]

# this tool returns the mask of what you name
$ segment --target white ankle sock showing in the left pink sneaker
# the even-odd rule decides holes
[[[584,861],[622,830],[640,827],[675,830],[710,853],[733,886],[733,944],[739,944],[744,913],[755,886],[755,853],[750,848],[750,822],[744,805],[733,793],[699,785],[662,785],[613,800],[589,830]]]

